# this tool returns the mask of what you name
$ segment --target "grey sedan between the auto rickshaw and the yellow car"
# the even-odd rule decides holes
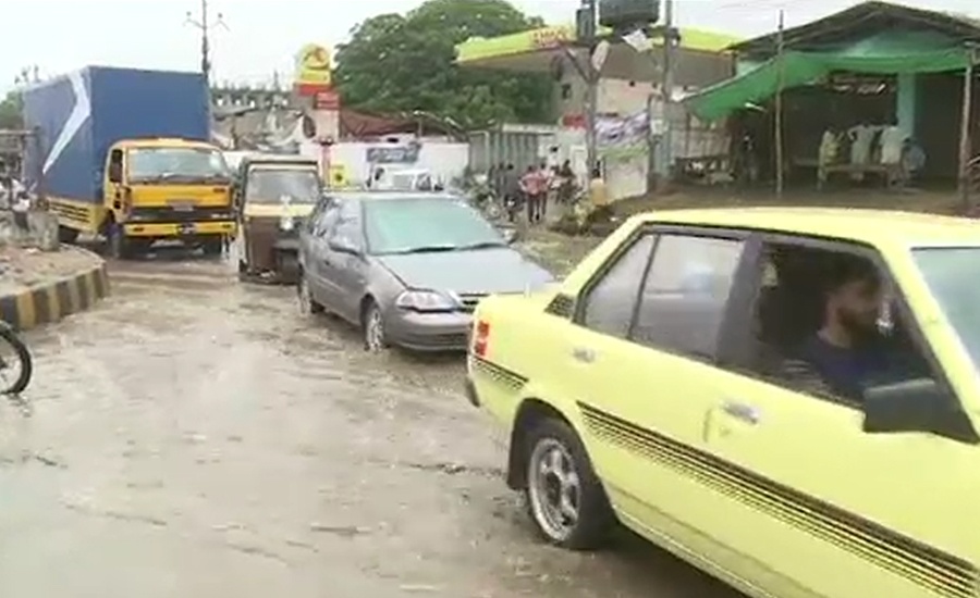
[[[321,199],[299,234],[299,266],[301,310],[358,326],[371,351],[465,350],[481,298],[552,282],[465,199],[432,192]]]

